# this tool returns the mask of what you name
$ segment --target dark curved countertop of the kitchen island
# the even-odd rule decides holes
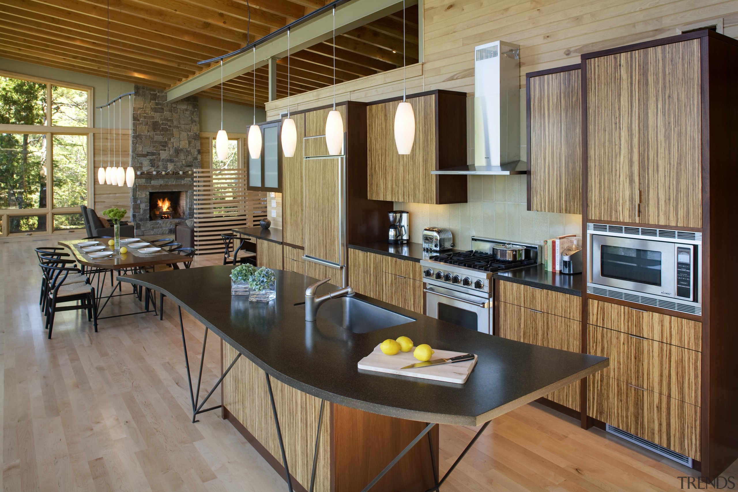
[[[249,302],[231,296],[232,266],[204,266],[119,280],[166,294],[273,378],[317,398],[381,415],[476,426],[604,369],[607,358],[525,344],[468,330],[356,294],[413,322],[352,333],[320,318],[305,321],[305,289],[315,279],[275,271],[277,297]],[[318,294],[334,290],[322,285]],[[360,371],[357,363],[384,339],[477,354],[465,384]],[[226,361],[227,363],[230,361]]]

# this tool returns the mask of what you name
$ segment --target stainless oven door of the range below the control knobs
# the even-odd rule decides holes
[[[450,288],[426,284],[425,313],[454,325],[489,333],[492,302]]]

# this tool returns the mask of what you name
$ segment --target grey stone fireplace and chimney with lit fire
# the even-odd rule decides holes
[[[197,98],[168,103],[162,90],[134,90],[131,161],[137,176],[131,221],[137,235],[173,234],[176,224],[194,217],[191,173],[200,167]],[[170,210],[162,207],[165,200]]]

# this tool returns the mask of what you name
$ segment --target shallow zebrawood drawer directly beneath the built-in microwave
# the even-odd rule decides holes
[[[646,339],[702,351],[702,323],[589,299],[587,322]]]

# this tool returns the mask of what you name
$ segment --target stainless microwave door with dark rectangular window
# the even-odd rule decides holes
[[[677,297],[675,243],[604,235],[591,238],[590,282]],[[691,245],[679,246],[692,249]]]

